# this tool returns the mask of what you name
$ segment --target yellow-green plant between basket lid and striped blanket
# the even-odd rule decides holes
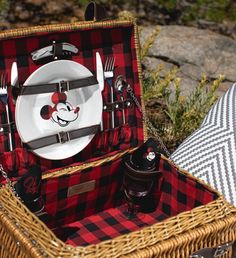
[[[142,46],[142,59],[147,55],[157,34],[158,30],[155,30]],[[170,151],[175,150],[200,126],[217,100],[216,90],[224,80],[222,75],[214,81],[203,76],[190,95],[185,96],[177,73],[177,67],[165,72],[163,66],[158,66],[151,72],[145,71],[143,76],[147,115]],[[148,129],[149,134],[155,136]]]

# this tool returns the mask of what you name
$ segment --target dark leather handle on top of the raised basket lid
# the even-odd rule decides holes
[[[84,13],[85,21],[102,21],[107,19],[106,10],[99,4],[91,2]]]

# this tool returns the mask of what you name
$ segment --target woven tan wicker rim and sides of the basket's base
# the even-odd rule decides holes
[[[236,209],[223,197],[143,230],[76,248],[58,240],[7,187],[0,190],[0,203],[0,243],[12,257],[21,257],[18,244],[22,257],[188,257],[203,247],[236,240]]]

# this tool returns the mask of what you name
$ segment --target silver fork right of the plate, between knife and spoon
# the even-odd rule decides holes
[[[114,103],[114,89],[113,89],[113,77],[115,68],[115,58],[110,57],[106,59],[104,67],[104,78],[110,86],[111,92],[111,103]],[[115,128],[115,113],[114,110],[111,111],[111,128]]]

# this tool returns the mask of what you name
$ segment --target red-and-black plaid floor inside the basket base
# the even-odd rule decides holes
[[[61,233],[60,237],[67,244],[86,246],[139,230],[167,218],[163,212],[156,210],[149,214],[137,213],[135,218],[128,219],[125,215],[126,211],[126,205],[111,208],[61,227],[58,229],[58,234]]]

